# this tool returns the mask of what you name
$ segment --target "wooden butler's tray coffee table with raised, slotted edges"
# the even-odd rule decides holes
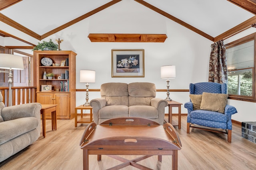
[[[89,154],[108,155],[124,162],[110,169],[134,166],[139,169],[150,169],[137,162],[153,155],[172,155],[172,169],[178,169],[178,150],[182,145],[176,130],[170,123],[163,126],[139,117],[119,117],[108,119],[100,125],[90,123],[80,141],[83,149],[83,167],[89,169]],[[126,160],[117,155],[146,155],[133,160]]]

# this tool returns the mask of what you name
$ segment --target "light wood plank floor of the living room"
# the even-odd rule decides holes
[[[173,123],[178,117],[173,117]],[[1,170],[82,170],[82,150],[79,142],[88,124],[74,127],[74,119],[57,120],[57,131],[51,130],[51,121],[46,120],[46,138],[40,137],[35,143],[18,154],[0,163]],[[176,130],[182,142],[178,151],[179,170],[255,170],[256,144],[241,137],[241,127],[233,124],[232,143],[227,135],[191,129],[186,133],[186,117],[182,116],[182,129]],[[42,132],[41,132],[42,135]],[[132,159],[137,156],[123,156]],[[97,161],[96,155],[89,156],[90,170],[104,170],[121,162],[108,156]],[[171,156],[152,156],[138,163],[154,170],[171,169]],[[122,170],[136,170],[132,166]]]

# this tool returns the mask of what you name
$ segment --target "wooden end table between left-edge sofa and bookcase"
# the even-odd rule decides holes
[[[52,113],[52,130],[57,130],[56,106],[57,104],[42,104],[40,110],[42,115],[43,136],[46,137],[46,113]]]

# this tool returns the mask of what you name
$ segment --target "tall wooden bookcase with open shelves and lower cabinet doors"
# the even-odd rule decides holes
[[[33,85],[36,86],[36,102],[40,104],[57,104],[57,119],[73,119],[76,107],[76,53],[73,51],[34,51],[33,57]],[[52,63],[60,64],[61,61],[68,59],[65,66],[44,66],[41,60],[50,58]],[[68,70],[68,79],[58,79],[62,73]],[[53,79],[43,79],[44,72],[55,74]],[[67,82],[68,91],[57,92],[61,82]],[[41,85],[51,85],[52,91],[42,92]],[[47,119],[51,115],[46,115]]]

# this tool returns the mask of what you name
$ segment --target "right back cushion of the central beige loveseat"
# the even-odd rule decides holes
[[[128,84],[128,93],[129,106],[151,106],[151,99],[156,97],[156,86],[154,83],[134,82]]]

